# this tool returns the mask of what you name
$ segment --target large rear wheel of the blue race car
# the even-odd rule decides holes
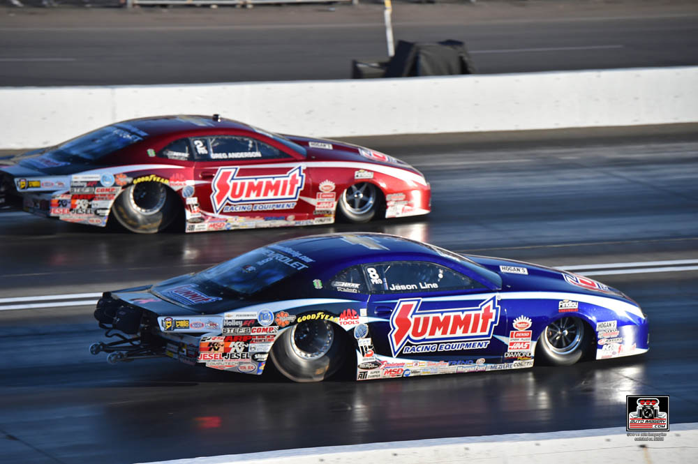
[[[295,324],[276,340],[269,354],[274,366],[294,382],[320,382],[346,359],[346,334],[325,320]]]

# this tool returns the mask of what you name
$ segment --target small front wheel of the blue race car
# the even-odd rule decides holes
[[[591,330],[579,317],[562,317],[551,322],[540,334],[537,356],[547,364],[571,366],[584,356],[591,341]]]

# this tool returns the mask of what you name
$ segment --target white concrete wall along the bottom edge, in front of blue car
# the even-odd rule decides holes
[[[535,421],[535,418],[531,420]],[[663,441],[635,440],[635,437],[626,435],[625,428],[600,428],[288,449],[178,459],[160,464],[648,464],[698,461],[695,447],[698,424],[671,424],[670,429],[664,432]]]

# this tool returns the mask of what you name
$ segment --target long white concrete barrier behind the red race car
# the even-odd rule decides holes
[[[698,122],[698,67],[114,87],[0,88],[0,148],[124,119],[214,114],[318,137]]]

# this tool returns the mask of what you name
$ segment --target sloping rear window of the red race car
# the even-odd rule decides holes
[[[128,145],[140,142],[148,134],[131,124],[118,123],[75,137],[51,151],[53,158],[61,161],[97,160]]]

